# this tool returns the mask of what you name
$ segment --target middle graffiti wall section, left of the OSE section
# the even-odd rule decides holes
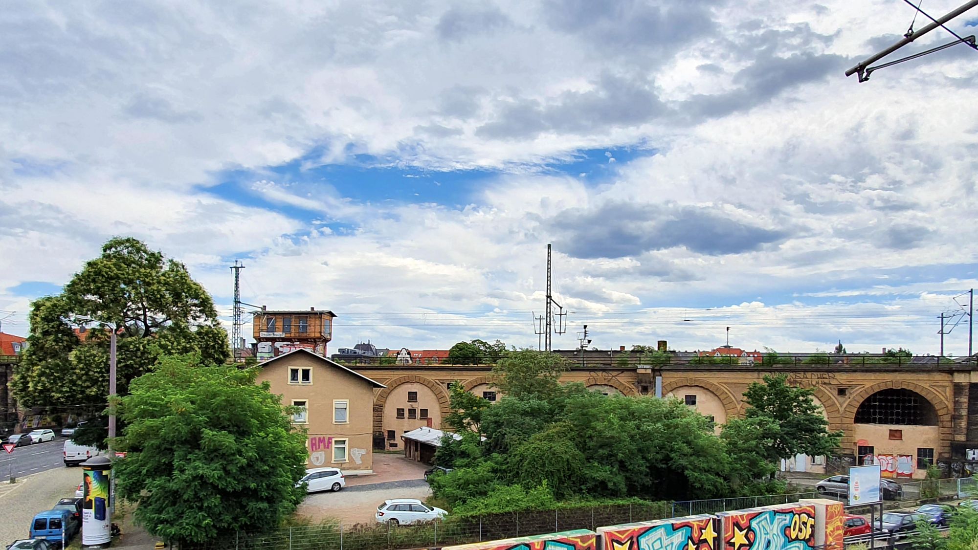
[[[690,516],[658,522],[599,527],[601,550],[717,550],[715,516]]]

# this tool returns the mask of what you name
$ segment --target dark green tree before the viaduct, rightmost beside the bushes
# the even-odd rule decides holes
[[[763,384],[751,384],[744,391],[744,417],[771,421],[755,426],[768,441],[760,450],[770,462],[796,454],[832,454],[838,448],[842,433],[828,432],[814,394],[815,390],[790,386],[783,374],[766,375]]]

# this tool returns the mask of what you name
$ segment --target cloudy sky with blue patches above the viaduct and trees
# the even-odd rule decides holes
[[[730,327],[748,349],[937,353],[956,312],[945,353],[965,354],[978,51],[844,75],[912,18],[900,0],[10,6],[2,329],[25,335],[30,300],[121,235],[185,262],[225,323],[240,259],[245,302],[333,310],[333,349],[536,346],[552,244],[558,348],[586,324],[600,348],[709,349]]]

